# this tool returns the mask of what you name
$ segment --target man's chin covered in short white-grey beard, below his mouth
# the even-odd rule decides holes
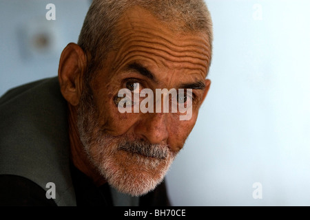
[[[114,151],[98,158],[97,168],[110,186],[119,192],[141,196],[161,184],[174,157],[174,153],[169,153],[165,159],[158,159],[127,151]]]

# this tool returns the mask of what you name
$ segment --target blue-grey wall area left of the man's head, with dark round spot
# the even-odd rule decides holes
[[[45,19],[48,3],[56,6],[56,21]],[[89,5],[86,0],[0,0],[0,96],[11,87],[57,75],[61,51],[77,41]],[[50,37],[45,50],[31,46],[37,34]]]

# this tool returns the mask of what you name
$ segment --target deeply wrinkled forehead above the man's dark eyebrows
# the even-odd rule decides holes
[[[197,69],[207,76],[211,47],[206,33],[173,31],[167,23],[139,7],[123,14],[116,32],[118,52],[114,68],[144,58],[173,69]]]

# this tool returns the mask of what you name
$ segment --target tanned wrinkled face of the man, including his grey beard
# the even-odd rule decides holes
[[[163,180],[194,127],[209,89],[210,47],[207,34],[175,34],[141,8],[128,10],[116,28],[118,48],[79,104],[79,131],[90,160],[109,184],[143,195]],[[180,120],[180,112],[121,113],[118,91],[133,91],[136,85],[154,94],[156,89],[192,89],[192,118]]]

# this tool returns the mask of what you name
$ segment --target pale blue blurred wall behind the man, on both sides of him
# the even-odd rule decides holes
[[[56,21],[45,19],[48,3],[56,5]],[[211,89],[167,176],[173,204],[309,206],[310,1],[207,4],[214,20]],[[88,5],[0,1],[0,95],[56,76],[61,50],[76,42]],[[37,30],[56,39],[47,51],[24,43]],[[262,199],[252,196],[256,182]]]

